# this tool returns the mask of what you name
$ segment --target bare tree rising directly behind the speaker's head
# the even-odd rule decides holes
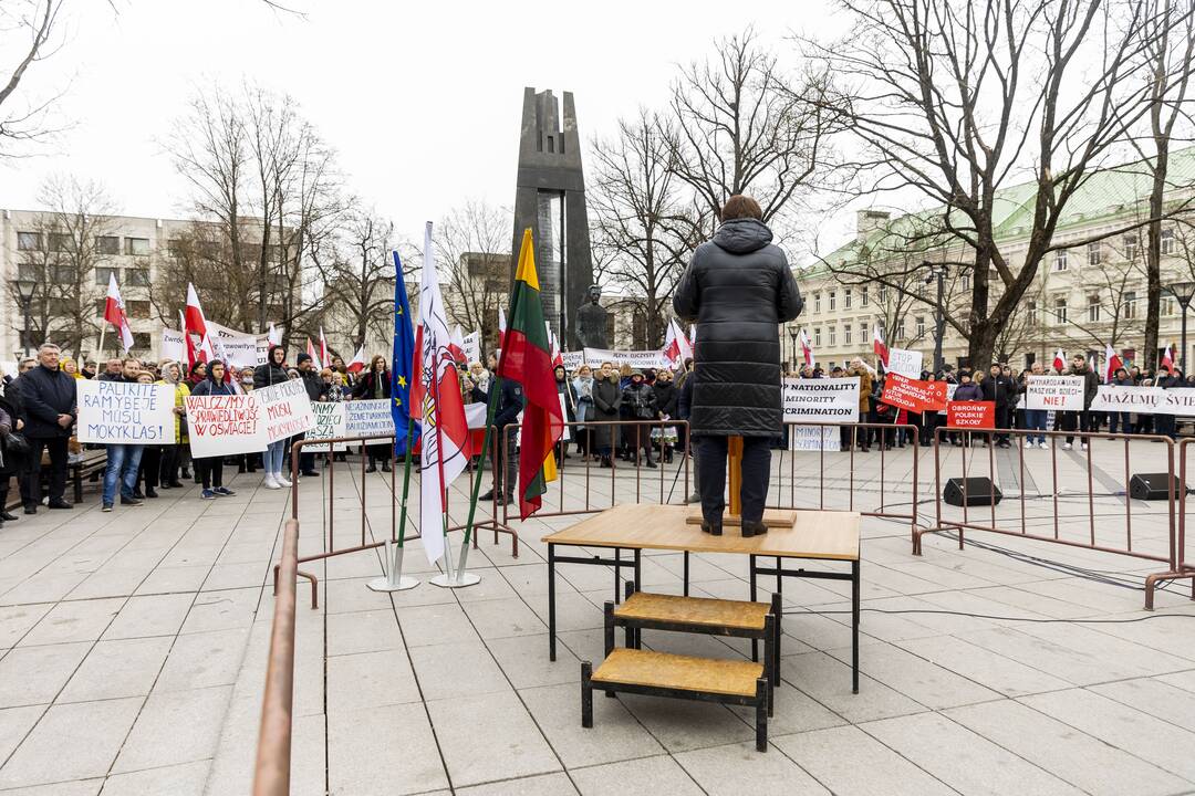
[[[719,39],[712,60],[681,70],[658,134],[709,229],[736,193],[750,193],[764,221],[776,224],[817,181],[834,117],[820,101],[825,88],[825,73],[782,74],[752,29]]]

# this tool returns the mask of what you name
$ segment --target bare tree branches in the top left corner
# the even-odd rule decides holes
[[[12,61],[0,66],[0,158],[16,156],[22,144],[54,131],[49,113],[60,94],[30,99],[22,81],[59,47],[63,0],[5,0],[0,4],[0,51]]]

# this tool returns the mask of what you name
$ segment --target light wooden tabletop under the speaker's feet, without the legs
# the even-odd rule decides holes
[[[743,538],[713,536],[688,524],[688,506],[625,504],[544,537],[550,544],[629,550],[687,550],[789,556],[831,561],[859,560],[859,513],[795,510],[789,527]]]

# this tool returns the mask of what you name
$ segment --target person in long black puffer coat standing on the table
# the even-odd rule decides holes
[[[701,530],[711,533],[722,532],[730,437],[743,438],[742,535],[766,531],[770,444],[784,420],[779,325],[803,306],[789,260],[762,218],[755,199],[730,197],[722,227],[693,252],[673,296],[678,317],[695,321],[700,340],[691,427],[701,458]]]

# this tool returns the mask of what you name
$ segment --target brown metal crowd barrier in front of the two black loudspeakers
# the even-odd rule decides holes
[[[943,439],[945,434],[958,434],[958,439],[962,439],[966,443],[964,446],[958,448],[951,443],[945,443]],[[1027,462],[1024,443],[1030,437],[1044,437],[1049,440],[1049,451],[1041,451],[1040,453],[1044,461],[1035,461],[1037,455],[1029,453],[1029,461]],[[998,457],[995,456],[995,439],[998,438],[1007,439],[1011,444],[1010,450],[1016,451],[1016,493],[1011,493],[1006,489],[1001,490],[1003,499],[1011,498],[1017,501],[1017,510],[1011,516],[1006,508],[1001,510],[1000,516],[998,516],[997,512],[995,485],[1000,481]],[[1060,448],[1065,439],[1074,440],[1074,449],[1072,449],[1072,451],[1065,451]],[[983,442],[987,442],[988,444],[986,448],[986,456],[982,456],[981,458],[987,459],[987,468],[986,471],[983,471],[982,468],[976,471],[974,463],[968,465],[968,458],[974,458],[968,455],[968,451],[973,448],[982,445]],[[1164,513],[1154,513],[1154,517],[1160,517],[1168,527],[1168,532],[1162,539],[1152,539],[1140,535],[1134,537],[1133,532],[1134,505],[1132,498],[1129,496],[1130,480],[1133,476],[1130,444],[1145,442],[1163,444],[1163,451],[1166,457],[1166,470],[1169,475],[1168,482],[1170,485],[1168,488],[1166,511]],[[1086,445],[1086,450],[1083,450],[1084,444]],[[1122,445],[1124,452],[1123,490],[1111,490],[1099,495],[1101,498],[1113,499],[1123,496],[1124,520],[1122,527],[1116,530],[1110,530],[1110,525],[1113,524],[1111,520],[1114,516],[1120,514],[1120,507],[1115,502],[1101,502],[1099,507],[1105,508],[1107,511],[1097,511],[1097,493],[1095,488],[1095,467],[1092,458],[1096,446],[1103,444]],[[1176,537],[1178,512],[1176,508],[1183,495],[1176,494],[1176,492],[1184,493],[1185,489],[1175,489],[1175,443],[1169,437],[1153,434],[1111,434],[1101,432],[1038,431],[1028,428],[999,428],[982,432],[963,432],[957,428],[939,427],[936,431],[933,444],[933,477],[934,492],[937,493],[934,501],[934,524],[930,527],[915,527],[913,530],[913,554],[921,555],[921,538],[926,533],[952,530],[958,535],[960,549],[963,548],[966,531],[985,531],[989,533],[1004,533],[1007,536],[1034,539],[1037,542],[1050,542],[1073,548],[1083,548],[1098,553],[1124,555],[1145,561],[1162,562],[1166,564],[1169,569],[1162,573],[1151,574],[1145,581],[1145,606],[1146,609],[1152,609],[1157,582],[1178,576],[1178,541]],[[962,467],[960,473],[962,479],[962,506],[957,507],[961,510],[961,517],[957,516],[960,512],[955,512],[955,517],[948,517],[944,516],[944,511],[949,510],[944,510],[943,507],[943,458],[956,450],[962,453]],[[1068,461],[1073,462],[1073,457],[1066,456],[1067,453],[1076,453],[1081,459],[1079,464],[1081,470],[1079,473],[1079,477],[1080,481],[1085,481],[1085,488],[1071,495],[1067,495],[1060,485],[1060,453],[1064,455],[1064,464]],[[1049,480],[1047,487],[1044,489],[1038,488],[1036,492],[1029,493],[1025,488],[1028,482],[1027,475],[1041,475],[1042,465],[1047,462],[1049,464]],[[987,511],[974,511],[968,505],[969,498],[976,496],[974,493],[970,493],[970,495],[968,494],[968,479],[973,477],[985,477],[988,481],[987,492],[981,495],[981,498],[986,498],[985,502],[987,502]],[[1064,507],[1072,505],[1070,500],[1071,498],[1078,498],[1084,504],[1084,511],[1078,518],[1066,518],[1059,513],[1060,502]],[[1031,516],[1028,511],[1028,506],[1030,501],[1038,500],[1048,501],[1048,511]],[[1141,513],[1140,505],[1136,506],[1136,512],[1139,514]],[[1138,519],[1140,520],[1141,517],[1139,516]],[[1036,526],[1031,525],[1031,522],[1037,523],[1042,520],[1050,520],[1052,532],[1042,533],[1034,530]],[[1080,524],[1077,520],[1083,522]],[[1080,531],[1079,529],[1084,530]]]

